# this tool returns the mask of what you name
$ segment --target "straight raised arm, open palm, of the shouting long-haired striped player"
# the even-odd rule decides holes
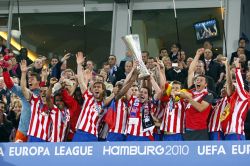
[[[87,85],[84,81],[83,76],[83,67],[82,64],[85,61],[85,57],[83,56],[83,52],[77,52],[76,54],[76,63],[77,63],[77,75],[78,75],[78,83],[80,85],[80,89],[82,93],[84,93],[87,90]]]

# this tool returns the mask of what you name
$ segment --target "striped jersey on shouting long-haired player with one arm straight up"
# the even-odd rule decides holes
[[[78,118],[76,129],[88,132],[98,137],[98,128],[103,114],[102,102],[97,102],[91,92],[86,90],[83,94],[84,103]]]

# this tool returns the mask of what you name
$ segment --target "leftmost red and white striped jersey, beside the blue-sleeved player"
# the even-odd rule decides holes
[[[40,96],[32,94],[30,99],[31,118],[28,135],[48,141],[50,137],[51,119],[48,107],[42,104]]]

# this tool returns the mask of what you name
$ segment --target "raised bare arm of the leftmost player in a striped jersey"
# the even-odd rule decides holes
[[[21,61],[20,68],[22,71],[21,82],[20,82],[21,89],[22,89],[24,97],[27,100],[30,100],[31,92],[27,89],[27,80],[26,80],[27,71],[28,71],[26,60]]]

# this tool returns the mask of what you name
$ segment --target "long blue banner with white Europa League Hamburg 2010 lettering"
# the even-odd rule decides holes
[[[250,141],[0,144],[0,166],[235,166],[249,163]]]

